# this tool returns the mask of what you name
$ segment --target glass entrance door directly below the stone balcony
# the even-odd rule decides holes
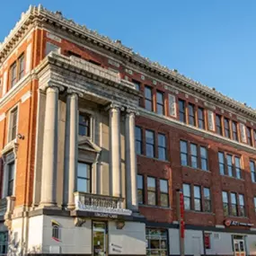
[[[106,256],[106,224],[93,222],[93,256]]]

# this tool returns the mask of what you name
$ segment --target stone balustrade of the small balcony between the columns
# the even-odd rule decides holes
[[[81,211],[130,216],[132,212],[123,208],[122,198],[75,192],[75,209]]]

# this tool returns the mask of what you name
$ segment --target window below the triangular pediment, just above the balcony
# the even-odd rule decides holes
[[[88,163],[77,164],[77,191],[91,193],[91,165]]]

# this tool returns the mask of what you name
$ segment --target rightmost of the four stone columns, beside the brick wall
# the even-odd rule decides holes
[[[135,136],[135,111],[127,110],[125,126],[127,207],[137,212],[137,154]]]

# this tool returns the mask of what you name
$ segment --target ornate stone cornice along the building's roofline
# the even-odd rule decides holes
[[[22,13],[21,21],[17,22],[13,31],[10,32],[9,36],[5,38],[0,46],[0,65],[8,51],[12,48],[13,42],[20,39],[22,32],[25,31],[28,25],[33,21],[40,21],[41,23],[55,26],[60,31],[66,31],[70,35],[74,35],[77,39],[87,41],[87,43],[93,46],[108,50],[119,57],[123,57],[130,64],[138,66],[139,69],[146,71],[148,74],[152,73],[154,76],[158,75],[164,81],[168,81],[167,83],[175,82],[181,84],[185,90],[199,93],[216,103],[221,103],[224,108],[226,106],[238,110],[242,114],[256,119],[256,111],[242,102],[237,102],[222,93],[218,93],[215,89],[200,84],[185,75],[181,75],[176,70],[169,69],[167,66],[161,66],[158,62],[151,61],[147,57],[142,57],[132,49],[122,45],[119,40],[110,40],[110,38],[102,36],[97,31],[92,31],[84,25],[79,25],[73,20],[66,19],[60,12],[50,12],[42,5],[30,6],[26,13]]]

